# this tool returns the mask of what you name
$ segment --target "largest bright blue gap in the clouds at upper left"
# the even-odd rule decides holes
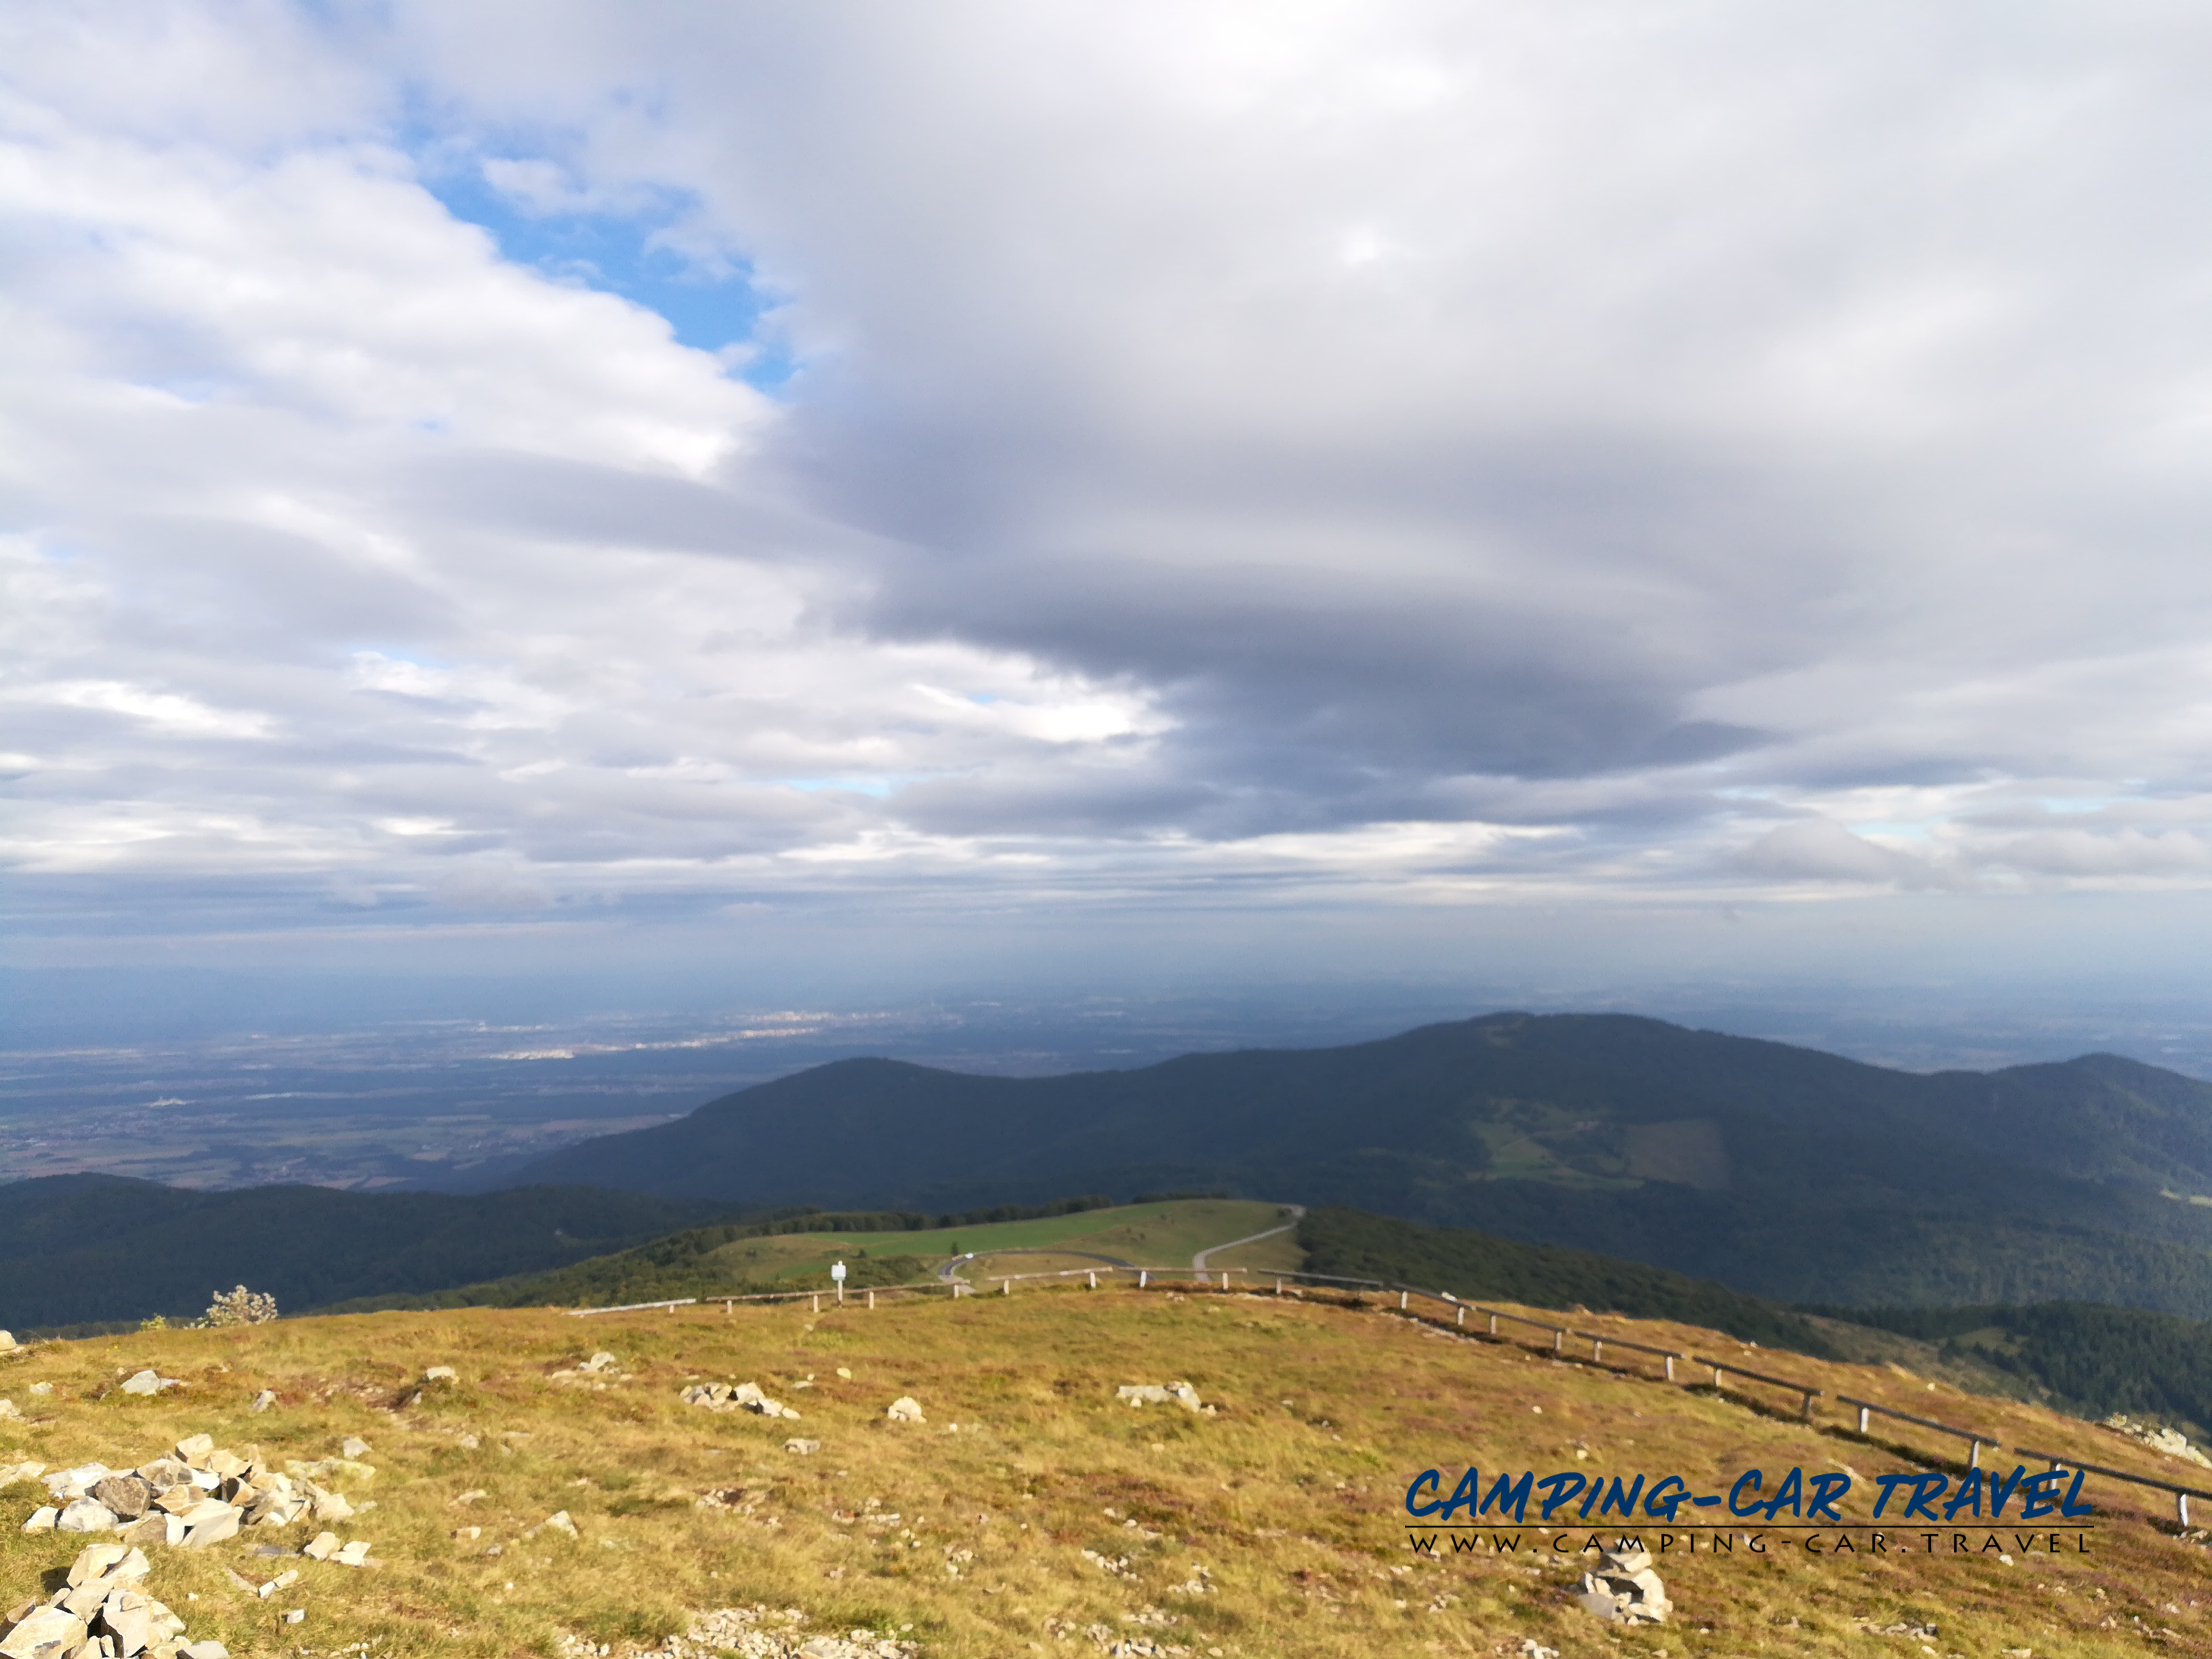
[[[544,175],[553,181],[551,190],[502,190],[493,181],[500,161],[487,164],[480,155],[447,159],[436,155],[436,146],[427,148],[431,155],[418,150],[422,188],[456,219],[487,230],[502,259],[657,312],[679,343],[730,354],[732,372],[761,392],[779,392],[796,372],[774,332],[761,332],[772,301],[754,283],[752,268],[699,259],[668,234],[695,208],[688,192],[635,188],[624,190],[617,204],[602,204],[564,184],[566,170],[544,157],[509,159],[507,168]],[[732,354],[730,347],[748,349]]]

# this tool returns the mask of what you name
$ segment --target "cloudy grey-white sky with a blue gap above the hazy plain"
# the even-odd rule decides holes
[[[0,962],[2197,1006],[2208,77],[15,0]]]

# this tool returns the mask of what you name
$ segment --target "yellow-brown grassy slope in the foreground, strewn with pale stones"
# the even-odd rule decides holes
[[[1754,1354],[1668,1325],[1577,1323],[2095,1462],[2159,1464],[2088,1425],[1931,1394],[1885,1369]],[[615,1352],[628,1380],[553,1376],[595,1347]],[[440,1363],[460,1369],[460,1385],[409,1398],[414,1378]],[[117,1394],[142,1365],[190,1387],[153,1400]],[[807,1376],[814,1385],[796,1387]],[[805,1416],[684,1407],[677,1391],[692,1378],[759,1380]],[[1113,1400],[1119,1383],[1170,1378],[1194,1383],[1221,1416]],[[35,1380],[53,1394],[29,1396]],[[263,1387],[281,1405],[254,1416],[248,1400]],[[135,1462],[195,1431],[230,1447],[259,1442],[276,1462],[332,1455],[345,1436],[372,1444],[374,1480],[341,1484],[376,1509],[336,1531],[372,1540],[383,1568],[250,1555],[272,1540],[296,1548],[312,1531],[301,1526],[157,1555],[148,1588],[195,1637],[219,1637],[234,1655],[374,1641],[378,1657],[489,1659],[553,1652],[564,1630],[655,1641],[695,1610],[752,1601],[803,1608],[816,1630],[914,1626],[929,1655],[962,1657],[1095,1655],[1102,1641],[1086,1630],[1239,1659],[1493,1655],[1517,1652],[1524,1637],[1568,1659],[1920,1652],[1920,1639],[1871,1637],[1860,1621],[1936,1624],[1929,1646],[1942,1655],[2143,1652],[2146,1632],[2161,1628],[2174,1632],[2166,1650],[2212,1650],[2203,1546],[2157,1531],[2143,1515],[2163,1506],[2115,1486],[2090,1495],[2132,1513],[2101,1517],[2093,1555],[2026,1555],[2013,1542],[2013,1564],[1807,1557],[1792,1546],[1763,1557],[1674,1553],[1661,1571],[1677,1621],[1641,1632],[1562,1601],[1573,1557],[1537,1546],[1582,1542],[1582,1528],[1522,1526],[1524,1553],[1509,1557],[1413,1557],[1400,1495],[1431,1464],[1681,1473],[1703,1491],[1743,1467],[1849,1464],[1871,1478],[1911,1464],[1756,1402],[1460,1340],[1387,1310],[1053,1290],[818,1316],[374,1314],[55,1343],[0,1369],[0,1391],[42,1418],[0,1422],[0,1453],[51,1467]],[[883,1418],[900,1394],[922,1402],[927,1425]],[[823,1447],[794,1455],[781,1449],[790,1436]],[[1949,1455],[1940,1440],[1918,1444]],[[458,1502],[467,1491],[482,1498]],[[734,1506],[699,1509],[703,1493]],[[1867,1498],[1854,1493],[1854,1513]],[[11,1601],[84,1542],[15,1533],[38,1500],[27,1484],[0,1493]],[[555,1509],[582,1537],[526,1540]],[[456,1540],[458,1526],[482,1533]],[[1971,1524],[1947,1531],[1982,1537]],[[2000,1531],[2011,1540],[2013,1528]],[[1124,1557],[1117,1571],[1099,1564]],[[274,1601],[252,1599],[226,1573],[263,1579],[279,1566],[303,1577]],[[1210,1588],[1183,1588],[1192,1584]],[[285,1606],[305,1608],[305,1626],[276,1626]],[[1148,1608],[1175,1621],[1124,1621]]]

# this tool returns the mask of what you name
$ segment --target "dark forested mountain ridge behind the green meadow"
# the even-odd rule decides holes
[[[845,1060],[518,1181],[956,1208],[1223,1186],[1657,1263],[1783,1301],[2212,1316],[2212,1084],[2121,1055],[1916,1075],[1635,1015],[975,1077]]]

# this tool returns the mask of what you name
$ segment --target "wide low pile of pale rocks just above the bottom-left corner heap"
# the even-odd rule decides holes
[[[179,1440],[166,1458],[137,1469],[108,1469],[102,1462],[80,1464],[44,1475],[44,1464],[0,1469],[0,1484],[46,1478],[51,1504],[42,1504],[22,1524],[27,1533],[106,1533],[124,1546],[181,1544],[201,1548],[234,1537],[239,1526],[285,1526],[296,1520],[349,1520],[354,1506],[319,1484],[338,1460],[292,1464],[292,1473],[274,1471],[261,1453],[223,1451],[210,1436]],[[367,1464],[343,1464],[347,1473]],[[374,1473],[374,1471],[367,1471]]]

